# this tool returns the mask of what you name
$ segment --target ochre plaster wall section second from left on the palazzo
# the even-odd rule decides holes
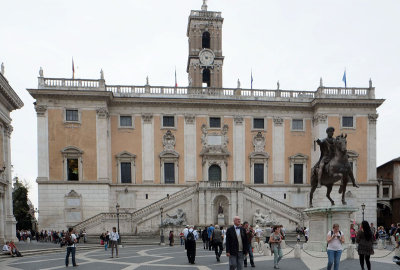
[[[117,183],[117,159],[116,155],[127,151],[136,155],[135,177],[136,183],[142,183],[142,118],[134,117],[134,129],[118,128],[118,115],[112,115],[111,121],[111,160],[112,160],[112,182]]]

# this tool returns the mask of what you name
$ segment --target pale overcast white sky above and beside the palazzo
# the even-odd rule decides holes
[[[400,1],[209,0],[221,11],[224,87],[315,91],[368,87],[378,108],[377,165],[400,156]],[[202,0],[4,0],[0,62],[25,106],[11,113],[13,176],[26,180],[37,207],[37,129],[34,99],[45,77],[99,79],[106,84],[187,86],[190,10]]]

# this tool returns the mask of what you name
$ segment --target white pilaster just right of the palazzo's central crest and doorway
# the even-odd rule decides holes
[[[234,117],[233,125],[233,180],[245,181],[245,128],[243,116]]]

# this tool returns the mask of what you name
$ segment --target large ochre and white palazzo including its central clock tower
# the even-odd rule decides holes
[[[155,231],[160,212],[186,213],[187,223],[224,222],[257,209],[287,226],[306,222],[317,138],[347,133],[354,175],[349,204],[376,220],[376,108],[365,88],[315,91],[223,88],[221,12],[192,10],[187,36],[188,87],[108,85],[40,72],[39,226],[88,232],[108,229],[119,208],[122,233]],[[229,46],[229,45],[228,45]],[[338,186],[332,192],[340,203]],[[315,206],[329,205],[325,187]],[[361,210],[355,216],[361,219]],[[111,226],[111,225],[110,225]]]

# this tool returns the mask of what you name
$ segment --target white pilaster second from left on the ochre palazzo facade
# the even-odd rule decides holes
[[[97,179],[99,181],[108,181],[108,119],[107,108],[102,107],[96,110],[96,144],[97,144]]]

